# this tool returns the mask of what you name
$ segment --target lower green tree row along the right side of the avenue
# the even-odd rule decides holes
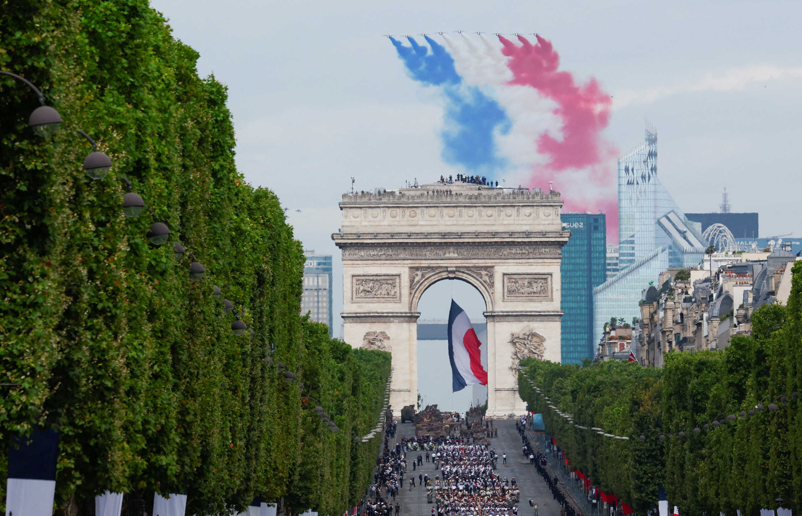
[[[756,310],[751,336],[723,351],[669,353],[662,369],[528,359],[521,396],[572,466],[639,514],[657,506],[659,486],[681,514],[802,510],[802,263],[792,272],[788,305]]]

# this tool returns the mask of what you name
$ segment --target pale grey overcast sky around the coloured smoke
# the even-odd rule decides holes
[[[457,172],[440,157],[442,103],[383,34],[543,34],[561,69],[613,95],[605,136],[620,151],[642,142],[644,119],[658,128],[659,177],[684,212],[716,211],[726,186],[761,236],[802,234],[802,2],[152,5],[201,53],[201,75],[229,86],[238,166],[277,192],[307,248],[335,256],[335,284],[330,234],[351,176],[368,190]],[[342,285],[334,296],[338,313]]]

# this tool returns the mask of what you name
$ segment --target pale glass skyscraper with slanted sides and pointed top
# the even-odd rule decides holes
[[[707,243],[699,224],[678,208],[657,174],[657,131],[618,159],[618,274],[593,288],[594,340],[611,317],[640,316],[644,288],[669,267],[696,267]]]

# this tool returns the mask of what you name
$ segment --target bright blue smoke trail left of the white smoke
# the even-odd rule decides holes
[[[497,155],[493,135],[506,134],[510,121],[504,110],[477,87],[466,87],[456,73],[454,58],[445,47],[424,36],[428,47],[415,38],[404,46],[390,38],[399,58],[412,79],[428,86],[441,87],[446,99],[443,159],[465,167],[473,175],[487,175],[506,165]]]

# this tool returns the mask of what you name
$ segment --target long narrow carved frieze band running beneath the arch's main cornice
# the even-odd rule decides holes
[[[411,214],[410,214],[411,216]],[[559,258],[561,248],[552,245],[421,245],[344,246],[343,260],[407,260],[415,258]]]

